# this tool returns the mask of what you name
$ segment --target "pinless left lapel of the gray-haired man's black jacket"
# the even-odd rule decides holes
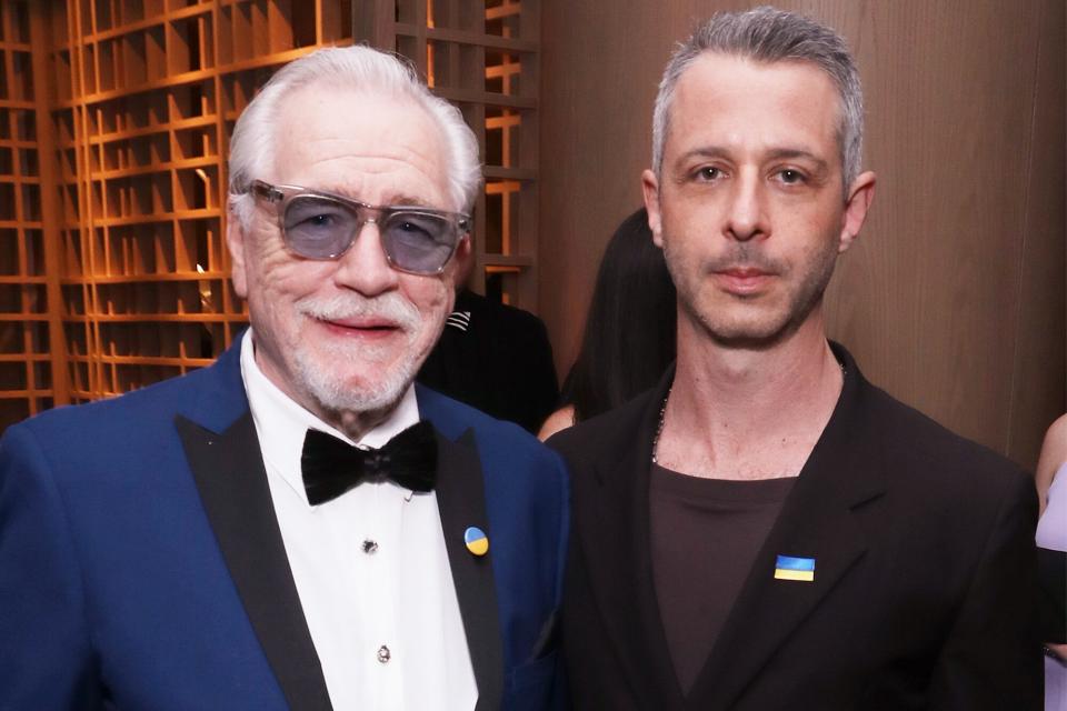
[[[615,642],[641,708],[675,709],[681,688],[667,645],[652,577],[648,488],[652,439],[672,372],[649,399],[636,430],[618,428],[619,458],[598,464],[595,491],[586,492],[591,515],[575,521],[601,621]]]

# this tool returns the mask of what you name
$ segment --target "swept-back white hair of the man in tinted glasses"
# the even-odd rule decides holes
[[[478,141],[459,109],[430,93],[400,57],[365,46],[328,47],[279,69],[237,119],[230,139],[229,203],[242,224],[251,217],[248,187],[268,171],[275,142],[283,140],[275,136],[275,127],[286,97],[317,82],[402,98],[423,109],[443,139],[450,209],[469,211],[473,207],[481,184]]]

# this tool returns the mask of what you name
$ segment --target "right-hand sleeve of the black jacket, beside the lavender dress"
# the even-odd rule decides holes
[[[958,617],[934,670],[931,711],[1039,711],[1037,500],[1015,475]]]

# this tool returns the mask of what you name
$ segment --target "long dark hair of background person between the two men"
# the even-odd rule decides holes
[[[675,284],[641,208],[619,224],[600,260],[581,350],[562,388],[575,422],[655,385],[675,360],[676,321]]]

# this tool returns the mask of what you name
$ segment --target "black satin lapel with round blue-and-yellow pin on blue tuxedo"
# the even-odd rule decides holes
[[[470,431],[457,442],[440,433],[437,440],[437,507],[478,683],[475,709],[497,711],[503,698],[503,645],[492,578],[492,531],[486,513],[481,462]],[[463,532],[471,525],[485,531],[489,538],[486,555],[475,555],[467,550]]]

